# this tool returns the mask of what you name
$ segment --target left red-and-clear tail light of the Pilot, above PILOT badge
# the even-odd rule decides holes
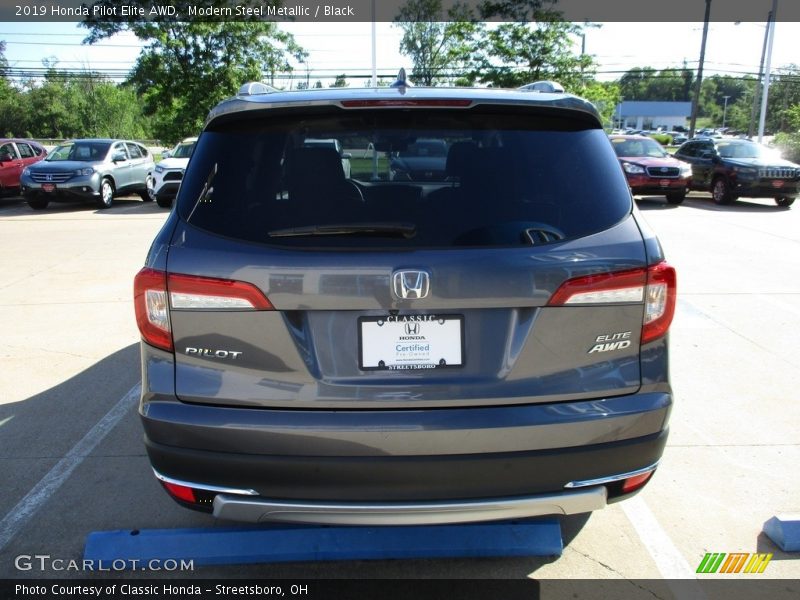
[[[169,274],[144,268],[133,283],[136,323],[148,344],[172,351],[169,310],[273,310],[256,286],[243,281]]]

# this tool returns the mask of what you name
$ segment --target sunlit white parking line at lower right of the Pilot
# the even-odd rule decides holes
[[[683,558],[683,555],[672,543],[669,535],[661,527],[655,515],[641,496],[636,496],[622,502],[622,510],[633,525],[642,545],[656,563],[661,576],[673,588],[679,588],[679,598],[693,598],[704,600],[705,593],[697,583],[695,572]],[[691,580],[679,582],[678,580]],[[678,589],[673,589],[677,592]],[[688,593],[688,595],[687,595]]]

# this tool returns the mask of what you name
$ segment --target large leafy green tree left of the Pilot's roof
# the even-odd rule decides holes
[[[146,0],[128,4],[150,5]],[[152,117],[154,134],[169,143],[198,132],[208,111],[235,94],[242,83],[291,71],[290,57],[297,61],[306,57],[294,38],[274,22],[174,22],[165,18],[82,25],[90,30],[86,43],[122,31],[145,42],[129,81],[144,113]]]

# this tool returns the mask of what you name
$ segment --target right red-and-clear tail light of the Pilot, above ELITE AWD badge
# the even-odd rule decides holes
[[[665,262],[642,269],[576,277],[559,287],[548,306],[644,303],[641,343],[667,333],[675,315],[675,269]]]

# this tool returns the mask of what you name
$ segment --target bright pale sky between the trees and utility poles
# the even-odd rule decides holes
[[[281,27],[310,53],[307,65],[297,68],[299,79],[327,84],[344,73],[357,86],[364,80],[356,76],[371,72],[371,23],[286,23]],[[775,27],[773,71],[800,64],[800,23],[779,22]],[[6,59],[12,68],[41,69],[43,60],[55,59],[59,68],[96,69],[122,77],[138,56],[138,41],[119,35],[96,46],[81,45],[86,32],[75,23],[0,22],[0,40],[6,42]],[[711,23],[704,73],[757,73],[764,33],[764,23]],[[378,72],[393,75],[400,67],[410,72],[411,61],[399,53],[401,31],[391,23],[377,23],[376,34]],[[613,80],[636,66],[663,69],[686,61],[695,68],[701,37],[702,23],[604,23],[586,30],[585,44],[587,54],[598,63],[598,78]],[[580,45],[576,38],[576,54]]]

